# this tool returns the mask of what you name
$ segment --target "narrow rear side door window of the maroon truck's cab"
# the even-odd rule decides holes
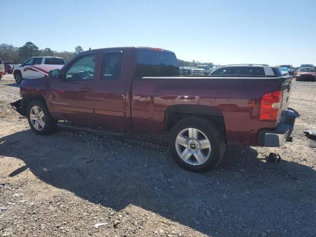
[[[102,62],[102,80],[117,80],[122,71],[122,57],[121,51],[106,52],[103,56]]]

